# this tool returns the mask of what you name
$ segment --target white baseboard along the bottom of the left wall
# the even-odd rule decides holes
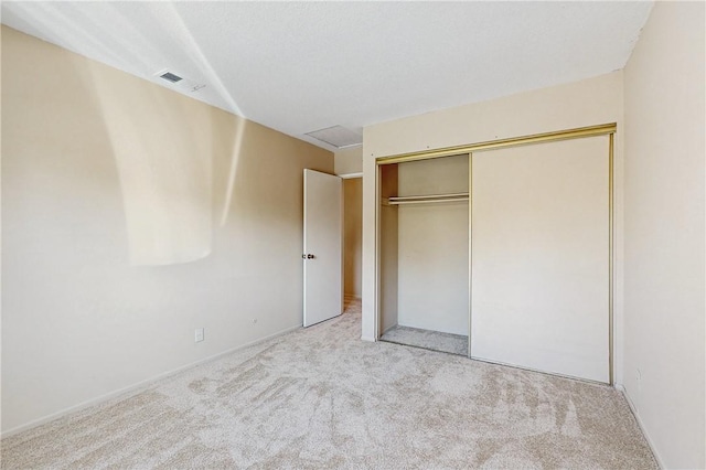
[[[285,330],[278,331],[277,333],[269,334],[269,335],[267,335],[265,338],[260,338],[258,340],[250,341],[249,343],[245,343],[245,344],[242,344],[239,346],[231,348],[231,349],[225,350],[223,352],[220,352],[217,354],[210,355],[208,357],[204,357],[204,359],[201,359],[199,361],[191,362],[191,363],[189,363],[186,365],[182,365],[181,367],[176,367],[174,370],[171,370],[171,371],[168,371],[168,372],[163,372],[163,373],[161,373],[159,375],[156,375],[153,377],[147,378],[145,381],[140,381],[140,382],[137,382],[137,383],[135,383],[132,385],[128,385],[126,387],[118,388],[117,391],[109,392],[107,394],[100,395],[100,396],[98,396],[96,398],[90,398],[88,400],[79,403],[78,405],[69,406],[68,408],[64,408],[64,409],[62,409],[60,412],[52,413],[51,415],[43,416],[43,417],[34,419],[34,420],[32,420],[30,423],[25,423],[23,425],[20,425],[18,427],[14,427],[12,429],[3,431],[2,434],[0,434],[0,438],[6,438],[6,437],[9,437],[9,436],[25,431],[28,429],[34,428],[36,426],[41,426],[43,424],[53,421],[54,419],[58,419],[61,417],[64,417],[66,415],[71,415],[73,413],[79,412],[79,410],[88,408],[90,406],[98,405],[98,404],[100,404],[103,402],[107,402],[108,399],[116,398],[116,397],[118,397],[120,395],[126,395],[126,394],[128,394],[130,392],[137,392],[138,389],[145,388],[148,385],[153,384],[154,382],[161,381],[162,378],[167,378],[167,377],[169,377],[171,375],[178,374],[180,372],[184,372],[184,371],[186,371],[189,368],[192,368],[192,367],[195,367],[197,365],[215,361],[215,360],[217,360],[220,357],[223,357],[224,355],[228,355],[228,354],[234,353],[236,351],[244,350],[246,348],[254,346],[254,345],[259,344],[259,343],[264,343],[265,341],[271,340],[274,338],[281,337],[281,335],[287,334],[287,333],[291,333],[292,331],[299,330],[301,327],[302,327],[301,324],[298,324],[297,327],[287,328]]]

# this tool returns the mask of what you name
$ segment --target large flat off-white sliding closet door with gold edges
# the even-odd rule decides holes
[[[610,382],[608,139],[473,154],[473,357]]]

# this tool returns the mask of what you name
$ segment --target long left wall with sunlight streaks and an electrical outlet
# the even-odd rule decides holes
[[[2,73],[3,431],[301,324],[331,152],[4,26]]]

